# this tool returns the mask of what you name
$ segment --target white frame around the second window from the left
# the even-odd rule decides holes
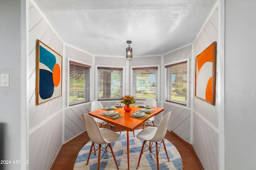
[[[110,66],[110,65],[95,65],[95,100],[98,100],[98,67],[106,68],[122,68],[123,69],[123,84],[122,84],[122,96],[124,96],[125,87],[125,66]],[[109,100],[100,100],[100,102],[109,101]],[[120,100],[111,100],[111,101],[120,101]]]

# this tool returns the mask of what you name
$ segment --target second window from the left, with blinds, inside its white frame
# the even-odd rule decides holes
[[[97,67],[98,100],[122,99],[123,68]]]

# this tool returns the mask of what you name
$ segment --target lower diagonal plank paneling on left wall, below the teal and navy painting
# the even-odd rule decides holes
[[[62,145],[62,114],[59,113],[29,135],[29,166],[49,169]]]

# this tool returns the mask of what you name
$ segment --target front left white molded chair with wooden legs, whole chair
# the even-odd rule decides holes
[[[98,124],[96,123],[94,118],[91,117],[90,115],[86,115],[86,114],[82,113],[82,116],[83,116],[83,119],[84,119],[84,124],[85,124],[85,127],[86,127],[86,131],[88,133],[88,136],[89,136],[90,140],[92,141],[92,145],[91,145],[91,149],[90,149],[90,152],[89,152],[89,155],[88,155],[86,165],[88,165],[88,162],[89,162],[89,159],[90,159],[90,156],[91,156],[91,153],[92,153],[92,146],[94,146],[95,144],[98,144],[99,145],[98,146],[98,152],[99,153],[98,153],[98,167],[97,167],[97,170],[99,170],[100,169],[100,150],[104,149],[104,147],[101,148],[101,145],[108,144],[108,146],[110,147],[111,153],[113,155],[114,161],[116,163],[116,168],[119,170],[117,162],[116,162],[116,157],[114,155],[114,152],[113,152],[113,149],[112,149],[112,146],[111,146],[110,143],[116,141],[116,139],[118,139],[120,137],[120,134],[118,134],[114,131],[111,131],[109,129],[106,129],[106,128],[99,128]],[[107,149],[107,147],[106,147],[106,149]],[[108,152],[108,151],[106,150],[106,152]],[[95,153],[95,146],[94,146],[94,153]],[[104,153],[105,153],[105,151],[104,151]]]

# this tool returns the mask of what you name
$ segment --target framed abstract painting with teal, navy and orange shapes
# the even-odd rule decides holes
[[[62,96],[62,56],[38,39],[36,57],[36,105],[39,105]]]

